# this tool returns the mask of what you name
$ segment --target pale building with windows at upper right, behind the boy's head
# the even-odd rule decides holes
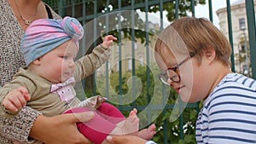
[[[238,0],[235,3],[231,3],[230,9],[236,72],[251,76],[245,0]],[[227,9],[218,9],[216,13],[219,19],[220,30],[224,32],[224,35],[229,39]]]

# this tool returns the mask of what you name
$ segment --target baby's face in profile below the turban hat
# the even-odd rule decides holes
[[[51,50],[41,58],[42,77],[53,83],[61,83],[72,77],[77,53],[77,46],[71,40]]]

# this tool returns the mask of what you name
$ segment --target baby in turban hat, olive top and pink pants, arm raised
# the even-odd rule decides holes
[[[116,107],[104,102],[106,99],[102,96],[82,102],[75,97],[75,82],[86,78],[108,60],[105,51],[117,40],[108,35],[92,54],[74,61],[83,35],[83,27],[71,17],[32,22],[21,41],[26,66],[20,67],[13,80],[0,89],[0,114],[7,118],[15,117],[25,105],[49,117],[93,111],[94,118],[77,125],[79,131],[96,144],[108,143],[108,135],[131,134],[151,139],[155,126],[152,124],[148,129],[138,131],[136,109],[126,119]]]

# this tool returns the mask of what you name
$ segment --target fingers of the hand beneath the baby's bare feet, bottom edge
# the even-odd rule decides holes
[[[147,141],[134,135],[108,135],[107,141],[111,144],[145,144]]]

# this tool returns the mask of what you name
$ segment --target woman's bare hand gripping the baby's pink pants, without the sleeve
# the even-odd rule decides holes
[[[76,123],[89,121],[93,117],[93,112],[63,114],[51,118],[40,115],[32,126],[30,137],[46,144],[91,144],[79,132]]]

